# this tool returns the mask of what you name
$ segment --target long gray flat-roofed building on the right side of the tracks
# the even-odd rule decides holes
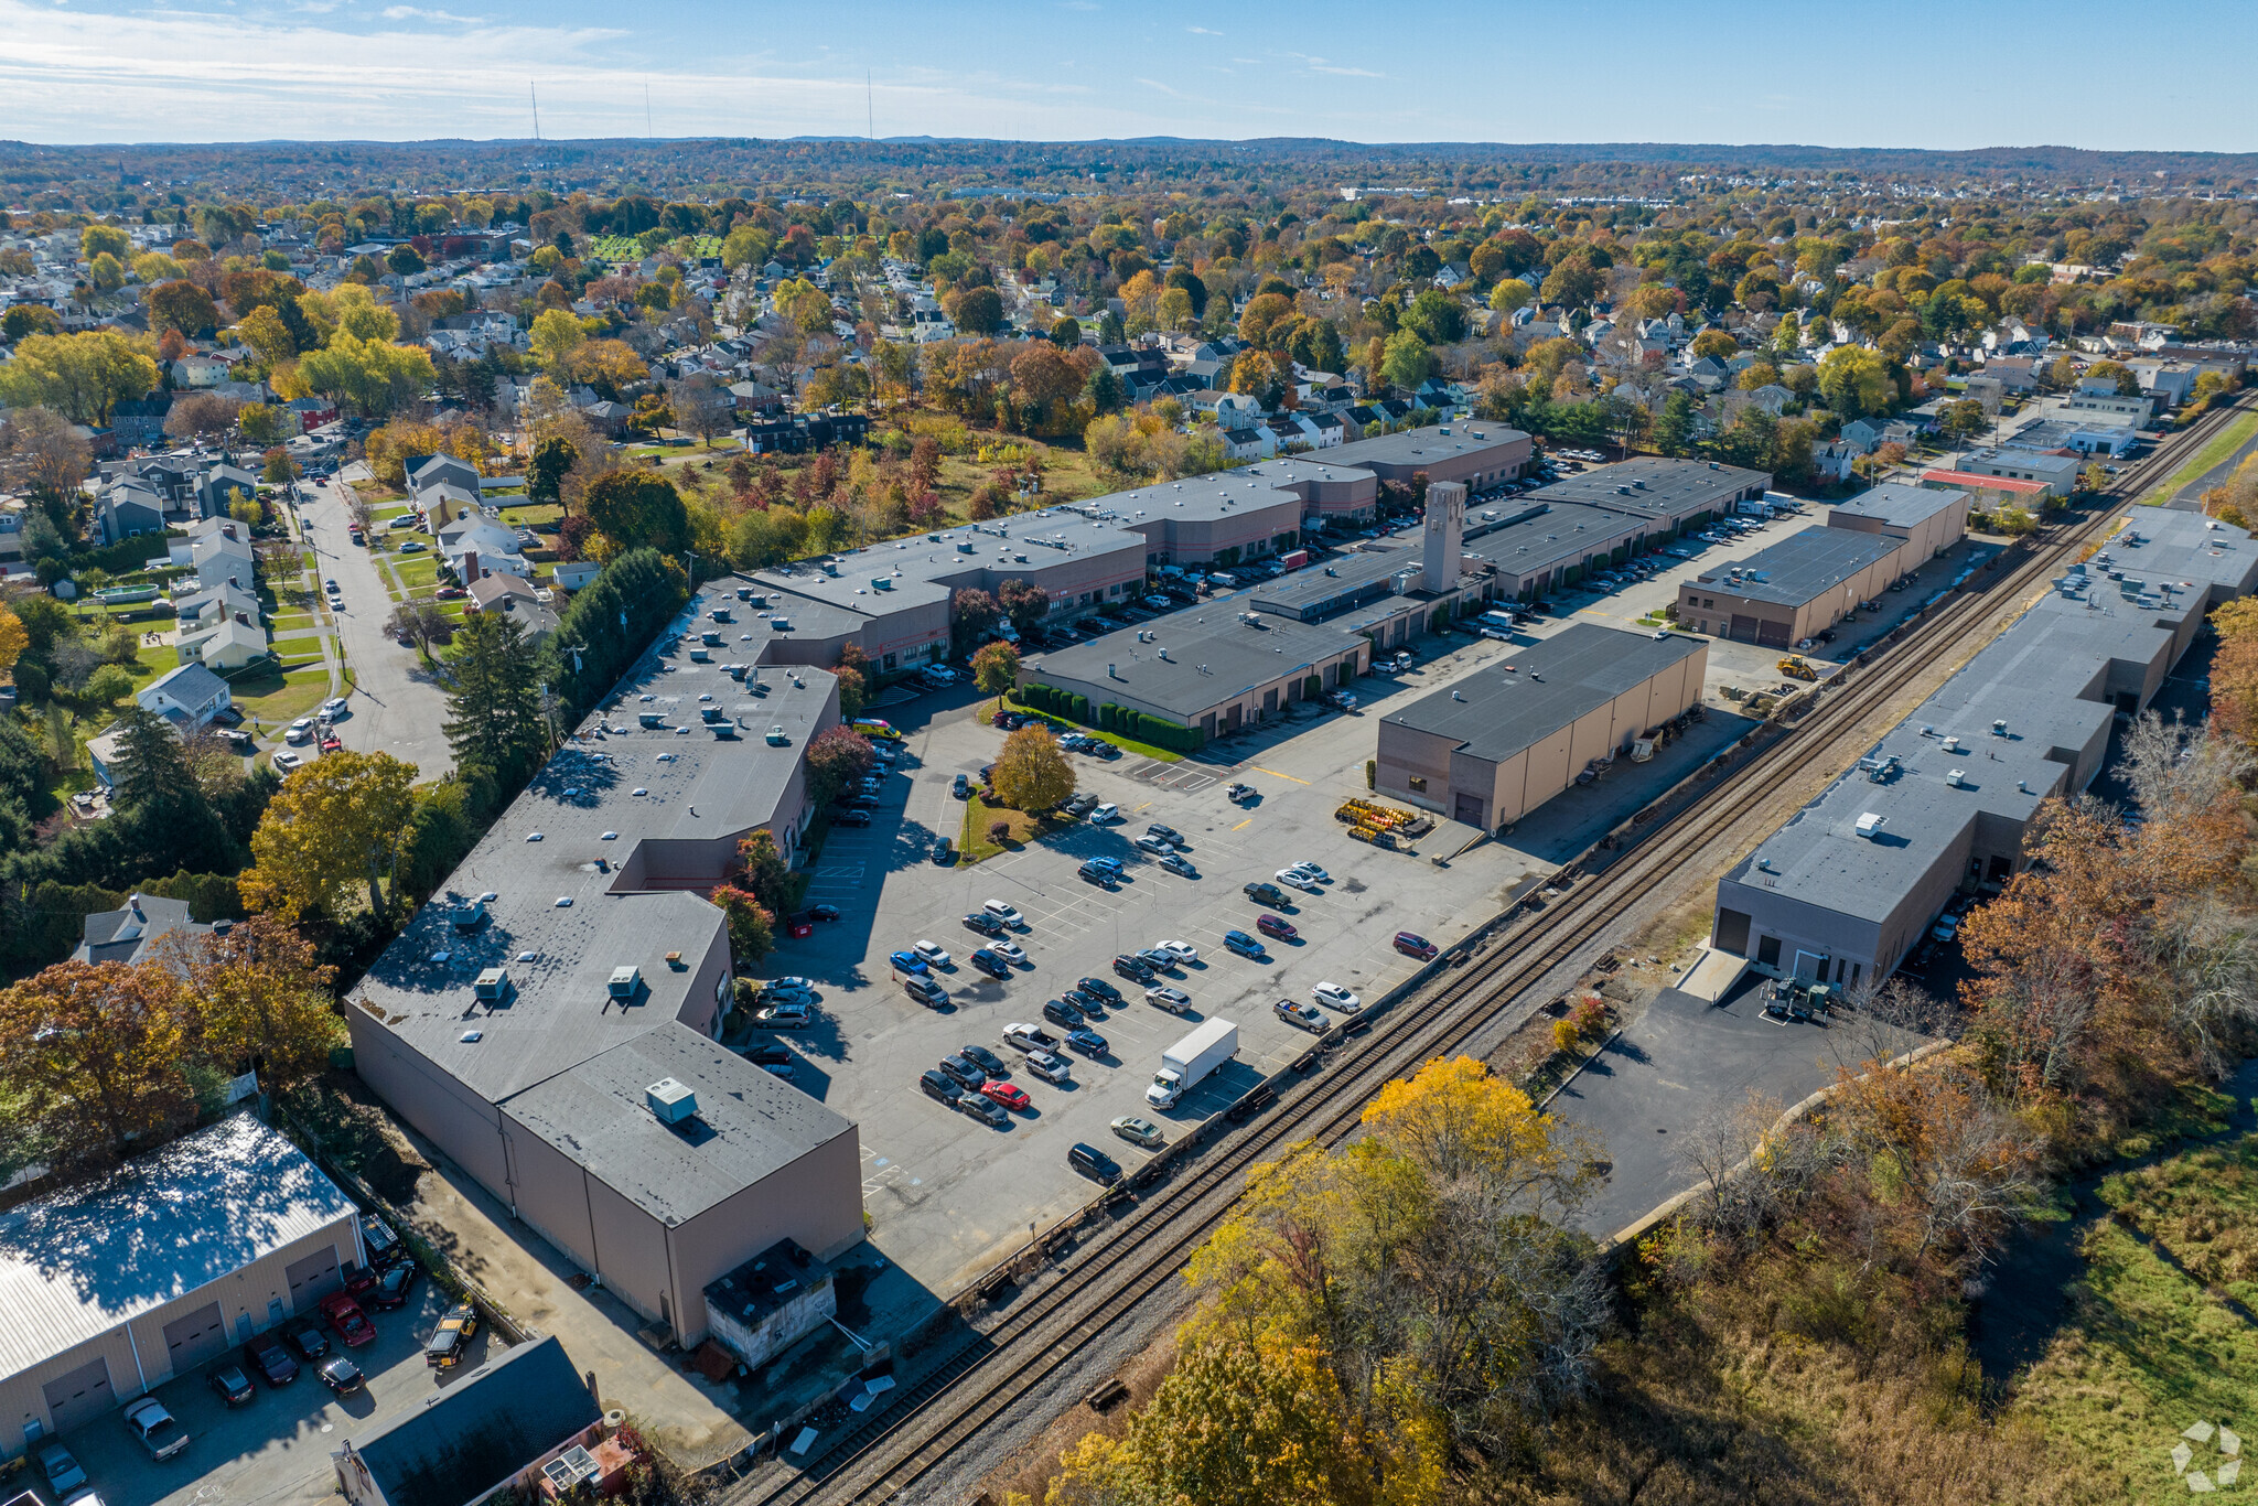
[[[2091,564],[1718,881],[1712,946],[1784,978],[1885,978],[1955,890],[2023,867],[2039,804],[2091,783],[2116,716],[2147,707],[2204,614],[2253,585],[2242,528],[2134,508]]]

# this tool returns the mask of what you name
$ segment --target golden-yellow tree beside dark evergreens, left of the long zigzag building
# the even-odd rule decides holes
[[[336,919],[345,894],[366,885],[382,926],[415,833],[413,788],[415,765],[384,752],[334,752],[291,772],[251,833],[244,903],[294,923]]]

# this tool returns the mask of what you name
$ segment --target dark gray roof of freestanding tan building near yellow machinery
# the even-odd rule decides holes
[[[1664,632],[1621,632],[1569,623],[1549,639],[1515,648],[1513,668],[1486,666],[1384,720],[1459,743],[1459,750],[1504,763],[1624,691],[1703,653],[1703,641]]]

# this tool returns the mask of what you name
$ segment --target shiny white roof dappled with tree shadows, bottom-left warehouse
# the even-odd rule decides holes
[[[0,1377],[357,1217],[248,1113],[0,1212]],[[352,1235],[343,1255],[359,1258]]]

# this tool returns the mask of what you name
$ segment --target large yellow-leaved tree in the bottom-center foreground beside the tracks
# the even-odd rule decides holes
[[[1465,1057],[1389,1084],[1364,1129],[1249,1174],[1185,1271],[1183,1359],[1122,1441],[1061,1459],[1052,1506],[1447,1501],[1454,1454],[1511,1456],[1590,1391],[1605,1282],[1567,1228],[1581,1136]],[[1285,1398],[1292,1425],[1267,1413]],[[1237,1474],[1210,1459],[1231,1434]]]

